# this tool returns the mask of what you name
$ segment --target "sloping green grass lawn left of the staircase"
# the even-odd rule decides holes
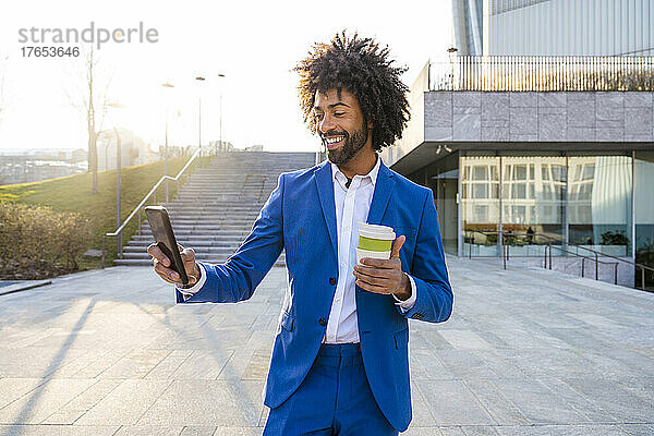
[[[203,158],[209,159],[208,157]],[[189,157],[168,160],[169,174],[175,175],[186,164]],[[193,173],[197,159],[186,174]],[[121,170],[121,222],[134,210],[143,197],[164,175],[164,161],[126,167]],[[185,182],[182,177],[180,186]],[[165,184],[157,190],[157,202],[166,199]],[[177,183],[169,182],[170,199],[177,192]],[[113,232],[116,226],[116,170],[98,172],[98,192],[90,192],[90,173],[69,175],[41,182],[20,183],[0,186],[0,202],[20,202],[28,205],[50,206],[58,211],[76,211],[92,222],[93,238],[88,249],[101,249],[102,234]],[[148,204],[154,204],[152,198]],[[143,219],[145,219],[145,214]],[[136,218],[123,231],[123,244],[138,228]],[[87,250],[88,250],[87,249]],[[86,250],[85,250],[86,251]],[[116,238],[107,238],[107,265],[116,258]],[[99,258],[81,256],[81,269],[97,268]]]

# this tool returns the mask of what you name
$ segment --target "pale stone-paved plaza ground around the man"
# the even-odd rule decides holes
[[[405,435],[654,434],[654,294],[451,259],[455,313],[411,322]],[[286,270],[173,305],[149,268],[0,296],[0,435],[261,435]]]

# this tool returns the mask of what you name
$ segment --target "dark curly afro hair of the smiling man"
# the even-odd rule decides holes
[[[313,117],[316,92],[336,88],[352,93],[359,100],[365,122],[373,124],[373,149],[392,145],[402,137],[409,121],[408,87],[400,81],[407,71],[391,66],[388,46],[379,48],[372,38],[351,38],[346,31],[336,34],[329,44],[315,43],[308,57],[295,66],[300,74],[300,106],[304,122],[316,132]]]

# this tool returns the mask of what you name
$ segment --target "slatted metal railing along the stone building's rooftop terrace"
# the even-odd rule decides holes
[[[451,56],[429,62],[429,90],[654,90],[654,57]]]

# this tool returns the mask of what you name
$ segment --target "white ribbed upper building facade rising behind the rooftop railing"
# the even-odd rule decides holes
[[[652,0],[452,0],[459,55],[654,55]]]

